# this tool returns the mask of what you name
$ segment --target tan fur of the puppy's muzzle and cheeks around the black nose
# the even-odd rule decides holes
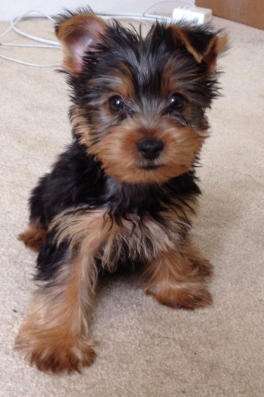
[[[153,121],[153,128],[145,128],[144,120],[126,122],[126,126],[107,129],[107,135],[92,144],[90,132],[83,120],[78,118],[75,130],[80,142],[88,147],[88,152],[102,162],[106,173],[127,183],[164,183],[172,177],[189,171],[196,153],[202,147],[205,135],[191,127],[176,127],[167,120]],[[164,143],[164,149],[155,164],[157,170],[146,171],[136,144],[142,138],[156,137]]]

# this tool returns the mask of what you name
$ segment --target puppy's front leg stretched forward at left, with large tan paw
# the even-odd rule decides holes
[[[31,364],[55,374],[80,371],[95,359],[87,314],[97,280],[94,254],[107,235],[101,214],[59,217],[56,228],[56,245],[48,235],[39,254],[37,279],[45,281],[15,344]]]

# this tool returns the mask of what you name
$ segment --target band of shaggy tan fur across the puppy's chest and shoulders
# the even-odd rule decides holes
[[[81,211],[79,208],[75,213],[64,211],[56,216],[50,229],[56,230],[58,245],[67,239],[71,249],[77,246],[84,258],[95,255],[102,266],[111,272],[124,254],[124,245],[129,259],[140,258],[144,262],[154,260],[160,252],[177,249],[178,242],[196,216],[197,201],[195,197],[188,197],[175,200],[175,204],[181,209],[175,206],[160,214],[166,226],[148,216],[139,221],[132,214],[130,221],[123,219],[122,224],[118,225],[103,210]],[[151,248],[148,248],[147,241],[152,242]]]

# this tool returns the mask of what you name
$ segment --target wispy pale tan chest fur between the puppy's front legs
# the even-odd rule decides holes
[[[110,271],[120,264],[148,263],[161,252],[174,249],[183,238],[182,222],[173,217],[157,222],[151,217],[123,220],[121,226],[113,225],[104,244],[101,245],[96,257],[103,267]]]

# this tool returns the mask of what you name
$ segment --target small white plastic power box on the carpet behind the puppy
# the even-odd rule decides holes
[[[182,5],[174,8],[172,19],[174,21],[191,21],[202,25],[211,21],[212,10],[209,8],[195,7],[190,5]]]

